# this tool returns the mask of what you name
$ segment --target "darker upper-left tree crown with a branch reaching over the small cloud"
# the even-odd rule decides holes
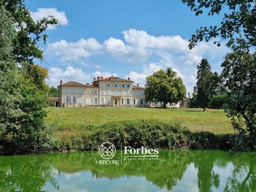
[[[10,13],[13,18],[17,37],[14,40],[13,54],[18,63],[32,64],[33,58],[43,59],[43,51],[37,43],[43,39],[46,43],[46,34],[43,32],[48,25],[58,24],[58,20],[53,16],[33,21],[29,9],[24,4],[24,0],[0,0],[0,6]]]

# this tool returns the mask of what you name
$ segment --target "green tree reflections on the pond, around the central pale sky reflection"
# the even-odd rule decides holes
[[[115,158],[120,160],[120,155],[117,151]],[[129,182],[132,176],[143,177],[154,186],[171,191],[175,186],[179,189],[189,165],[197,172],[194,179],[200,192],[256,191],[256,159],[251,153],[229,158],[223,151],[162,150],[159,160],[123,160],[122,165],[97,165],[96,160],[100,160],[97,152],[0,157],[0,191],[36,192],[46,184],[58,190],[62,188],[57,183],[60,175],[72,176],[81,171],[89,172],[91,179],[99,182],[100,178],[110,181],[125,176]],[[232,172],[224,178],[230,168]]]

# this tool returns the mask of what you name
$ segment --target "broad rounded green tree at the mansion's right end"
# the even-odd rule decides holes
[[[146,78],[147,88],[145,90],[145,100],[147,102],[163,102],[166,104],[176,103],[186,96],[186,87],[177,73],[168,67],[160,69]]]

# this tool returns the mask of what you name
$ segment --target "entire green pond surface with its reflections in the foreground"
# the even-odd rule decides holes
[[[256,192],[256,158],[223,151],[160,151],[159,160],[98,165],[98,152],[0,157],[0,192]],[[121,160],[121,152],[114,158]]]

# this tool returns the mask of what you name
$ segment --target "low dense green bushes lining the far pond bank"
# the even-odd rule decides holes
[[[215,135],[208,131],[191,132],[180,123],[162,123],[157,120],[110,122],[96,127],[87,126],[84,133],[58,136],[52,146],[55,150],[98,150],[103,142],[113,143],[117,149],[123,145],[160,149],[224,149],[228,148],[228,135]],[[56,143],[58,142],[58,144]]]

